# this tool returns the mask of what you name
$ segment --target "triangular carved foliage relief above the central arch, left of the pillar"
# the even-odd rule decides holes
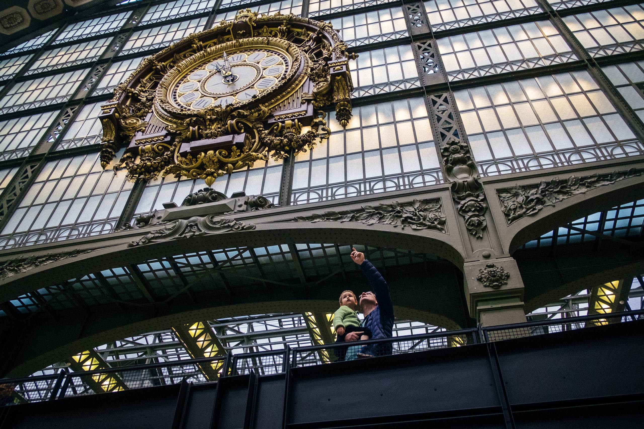
[[[359,222],[409,227],[414,230],[437,230],[447,232],[446,218],[440,207],[440,199],[415,199],[409,203],[393,201],[392,204],[362,206],[358,210],[325,212],[310,216],[296,217],[296,222]]]

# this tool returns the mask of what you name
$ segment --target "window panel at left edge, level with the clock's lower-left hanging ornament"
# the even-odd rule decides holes
[[[58,111],[0,121],[0,160],[30,154],[55,120]]]

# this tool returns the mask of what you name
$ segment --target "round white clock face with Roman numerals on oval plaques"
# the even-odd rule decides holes
[[[291,64],[288,54],[270,48],[224,52],[187,70],[168,98],[176,107],[193,110],[244,104],[275,89]]]

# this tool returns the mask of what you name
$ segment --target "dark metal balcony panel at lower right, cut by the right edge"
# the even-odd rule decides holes
[[[644,324],[498,342],[512,405],[644,392]]]

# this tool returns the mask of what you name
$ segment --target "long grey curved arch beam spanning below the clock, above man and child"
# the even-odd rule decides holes
[[[33,246],[25,252],[16,248],[6,252],[8,262],[18,255],[22,260],[39,256],[52,256],[52,262],[32,264],[24,271],[5,277],[0,281],[0,302],[28,293],[38,287],[50,286],[70,278],[131,264],[134,261],[169,257],[197,250],[231,247],[260,247],[284,243],[341,243],[366,244],[368,246],[401,248],[418,251],[449,260],[459,269],[462,268],[464,250],[458,233],[441,233],[431,230],[412,230],[393,228],[384,224],[366,226],[361,223],[340,222],[283,222],[258,223],[254,230],[225,232],[193,236],[189,239],[149,242],[145,245],[131,246],[132,241],[146,233],[154,232],[162,226],[148,226],[118,234],[100,235],[78,239],[69,246],[50,243]],[[48,253],[52,252],[52,253]],[[55,259],[63,255],[61,259]]]

